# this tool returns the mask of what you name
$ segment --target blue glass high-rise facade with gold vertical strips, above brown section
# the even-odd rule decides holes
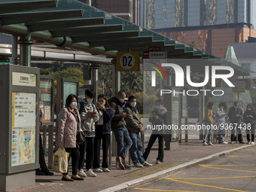
[[[141,0],[140,25],[145,24],[149,29],[229,23],[250,26],[251,3],[251,0]]]

